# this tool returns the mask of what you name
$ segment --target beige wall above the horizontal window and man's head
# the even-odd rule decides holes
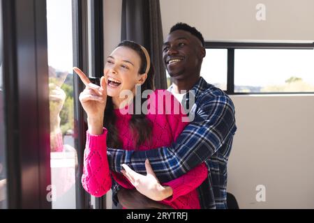
[[[257,3],[266,6],[266,20],[257,21]],[[186,22],[211,41],[314,40],[313,0],[160,0],[163,34]]]

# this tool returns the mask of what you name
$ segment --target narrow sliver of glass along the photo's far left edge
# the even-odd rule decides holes
[[[0,209],[6,208],[6,159],[5,159],[5,126],[4,126],[4,100],[3,100],[3,73],[2,73],[2,2],[0,1]]]

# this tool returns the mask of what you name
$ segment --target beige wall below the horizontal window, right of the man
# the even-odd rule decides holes
[[[233,95],[228,188],[240,208],[314,208],[314,95]],[[266,201],[257,202],[257,185]]]

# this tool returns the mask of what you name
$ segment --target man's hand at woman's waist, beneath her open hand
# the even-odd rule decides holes
[[[117,193],[119,203],[128,209],[173,209],[158,201],[153,201],[137,190],[127,190],[122,188]]]

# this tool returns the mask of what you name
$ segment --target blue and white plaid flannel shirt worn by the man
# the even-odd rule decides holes
[[[234,105],[228,95],[202,77],[192,90],[196,104],[194,120],[171,147],[150,151],[107,148],[109,166],[119,172],[121,164],[128,164],[137,173],[146,174],[144,161],[148,158],[158,180],[164,183],[205,162],[209,175],[197,188],[200,206],[203,209],[227,208],[227,161],[237,130]],[[188,102],[188,97],[186,100]],[[119,187],[113,181],[112,199],[116,205]]]

